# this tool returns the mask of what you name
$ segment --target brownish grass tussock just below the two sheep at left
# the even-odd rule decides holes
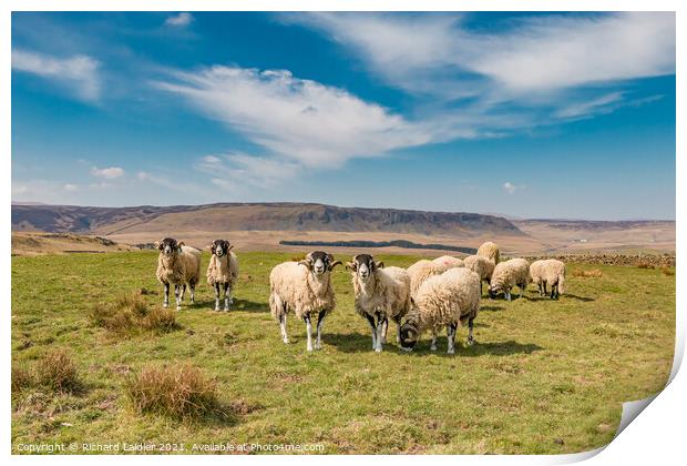
[[[100,303],[89,314],[93,325],[119,335],[135,335],[142,331],[168,333],[180,327],[174,311],[148,307],[141,293],[119,296],[113,303]]]

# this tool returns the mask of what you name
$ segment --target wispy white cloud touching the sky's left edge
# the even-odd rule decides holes
[[[99,68],[100,63],[88,55],[54,58],[24,50],[12,50],[13,70],[54,80],[84,101],[98,101],[101,97]]]

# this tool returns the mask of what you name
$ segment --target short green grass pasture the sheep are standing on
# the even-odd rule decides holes
[[[459,330],[448,356],[445,335],[437,353],[428,335],[411,354],[394,342],[371,352],[349,274],[337,269],[339,305],[322,351],[307,354],[305,325],[291,318],[284,345],[267,308],[269,270],[289,259],[239,254],[233,312],[212,311],[203,284],[196,305],[177,314],[178,330],[122,337],[88,314],[141,288],[155,292],[147,303],[162,303],[156,253],[12,257],[13,366],[64,348],[82,381],[75,394],[41,386],[12,394],[13,452],[22,443],[152,442],[183,443],[189,453],[194,443],[225,442],[321,444],[325,453],[575,453],[607,444],[622,403],[660,391],[670,371],[675,276],[659,270],[570,265],[558,302],[533,286],[510,303],[484,298],[476,344],[465,347]],[[603,276],[573,276],[585,269]],[[225,415],[137,414],[123,387],[148,363],[199,367],[216,379]]]

